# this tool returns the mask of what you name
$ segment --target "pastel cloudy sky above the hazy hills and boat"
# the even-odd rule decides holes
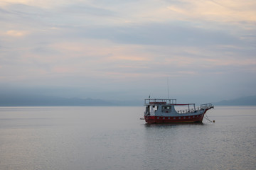
[[[188,102],[256,95],[255,0],[1,0],[0,25],[1,91]]]

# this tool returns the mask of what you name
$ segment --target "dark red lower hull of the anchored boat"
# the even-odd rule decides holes
[[[146,123],[201,123],[206,111],[200,115],[144,116],[144,118]]]

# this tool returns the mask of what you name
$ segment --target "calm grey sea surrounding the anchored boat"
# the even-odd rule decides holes
[[[0,107],[0,169],[256,169],[256,106],[146,124],[144,106]]]

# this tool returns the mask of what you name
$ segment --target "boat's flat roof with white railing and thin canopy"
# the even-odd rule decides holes
[[[163,98],[146,98],[144,106],[157,106],[157,105],[175,105],[175,106],[186,106],[195,105],[195,103],[179,103],[177,104],[176,99],[163,99]]]

